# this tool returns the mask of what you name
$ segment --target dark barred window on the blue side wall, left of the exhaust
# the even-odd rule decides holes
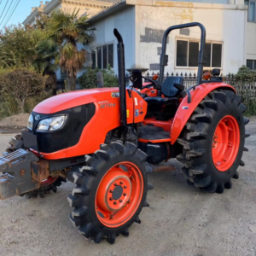
[[[104,44],[91,49],[91,67],[113,67],[113,44]]]

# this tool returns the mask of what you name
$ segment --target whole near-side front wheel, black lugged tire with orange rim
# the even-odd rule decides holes
[[[120,141],[101,145],[101,150],[85,156],[86,166],[73,173],[77,184],[67,197],[73,212],[70,219],[79,232],[96,243],[106,238],[129,236],[128,228],[141,223],[138,215],[146,202],[151,167],[147,154],[133,143]]]

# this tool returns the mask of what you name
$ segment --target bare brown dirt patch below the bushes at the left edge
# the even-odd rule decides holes
[[[20,113],[0,120],[0,133],[17,133],[26,127],[29,113]]]

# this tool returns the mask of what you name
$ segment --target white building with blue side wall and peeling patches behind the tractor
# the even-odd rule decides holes
[[[220,67],[224,74],[236,73],[241,65],[256,69],[255,0],[236,0],[236,4],[235,0],[192,1],[126,0],[90,18],[96,27],[95,40],[90,44],[91,65],[102,68],[109,62],[118,72],[117,42],[113,36],[113,29],[117,28],[124,38],[126,69],[157,72],[166,28],[197,21],[207,29],[207,69]],[[196,72],[200,36],[196,27],[171,32],[166,72]]]

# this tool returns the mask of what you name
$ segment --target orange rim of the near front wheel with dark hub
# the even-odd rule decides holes
[[[96,215],[105,226],[125,224],[137,211],[143,196],[143,176],[131,162],[112,166],[96,191]]]

